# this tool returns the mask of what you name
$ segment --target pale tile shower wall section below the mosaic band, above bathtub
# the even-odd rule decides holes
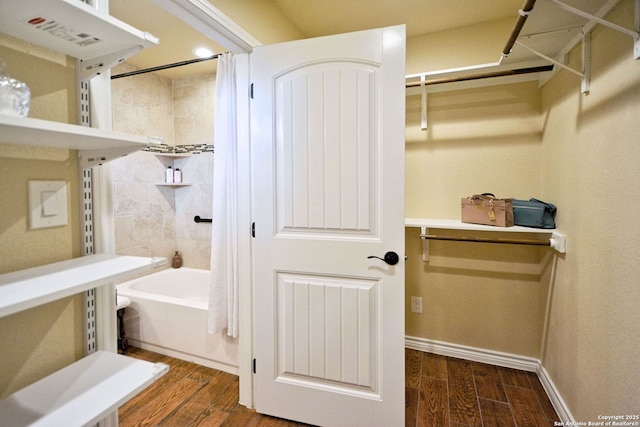
[[[161,185],[168,165],[180,168],[192,185]],[[116,252],[121,255],[183,255],[186,267],[209,269],[211,224],[196,224],[195,215],[210,218],[213,155],[173,160],[139,152],[113,163]]]

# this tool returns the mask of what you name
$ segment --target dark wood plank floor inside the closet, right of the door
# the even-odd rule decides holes
[[[538,376],[405,350],[406,426],[548,427],[559,420]]]

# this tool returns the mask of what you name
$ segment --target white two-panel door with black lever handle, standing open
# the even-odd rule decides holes
[[[404,60],[404,26],[251,54],[258,412],[404,425]]]

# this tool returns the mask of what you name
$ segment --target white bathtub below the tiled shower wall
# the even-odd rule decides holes
[[[116,286],[131,305],[124,324],[129,344],[238,374],[238,340],[207,333],[207,270],[162,270]]]

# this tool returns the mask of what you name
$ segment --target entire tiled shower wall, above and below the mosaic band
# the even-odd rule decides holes
[[[135,69],[119,65],[112,74]],[[215,74],[170,80],[154,74],[112,81],[113,129],[161,136],[169,145],[213,144]],[[167,166],[180,168],[186,187],[165,187]],[[209,269],[213,155],[170,158],[138,152],[111,162],[116,252],[164,256],[180,251],[186,267]]]

